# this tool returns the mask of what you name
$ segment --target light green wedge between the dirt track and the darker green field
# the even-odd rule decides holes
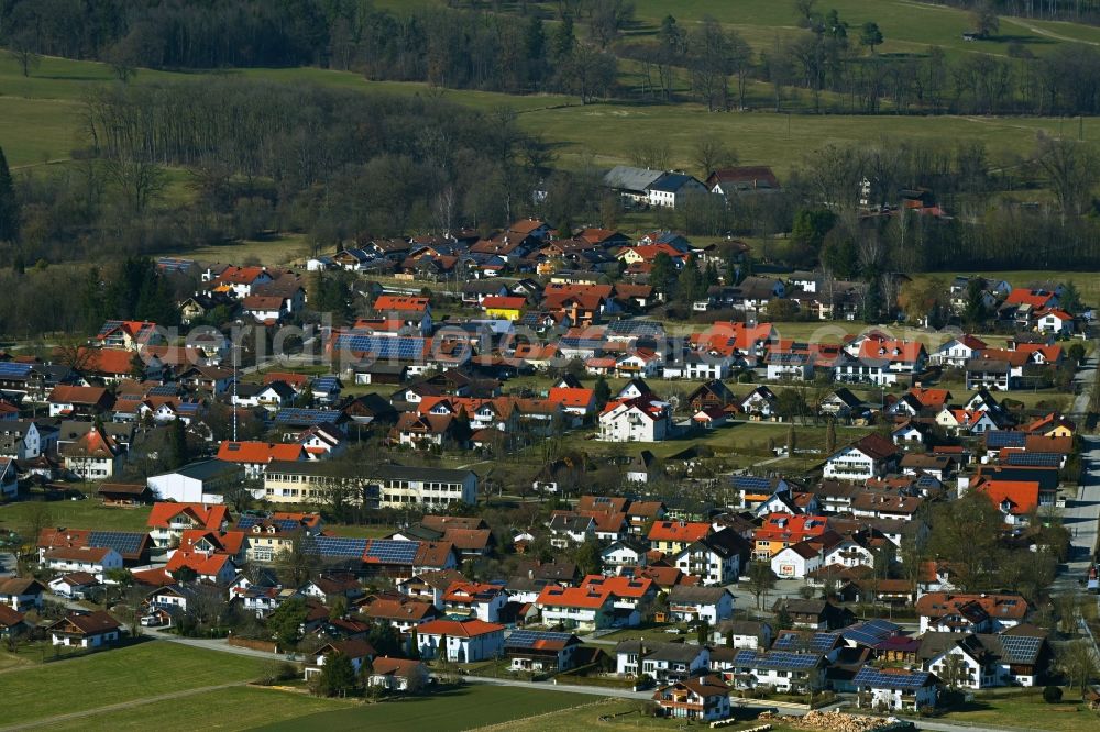
[[[224,655],[224,654],[223,654]],[[256,687],[234,687],[202,694],[134,705],[125,712],[91,714],[70,722],[50,725],[53,732],[65,730],[111,730],[111,732],[191,732],[204,730],[245,730],[272,720],[289,721],[307,714],[346,709],[351,702],[320,699],[304,694]],[[180,709],[195,714],[180,713]],[[201,718],[201,724],[196,722]]]

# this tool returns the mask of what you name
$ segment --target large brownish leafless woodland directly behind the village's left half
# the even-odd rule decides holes
[[[548,147],[506,109],[245,79],[105,86],[70,165],[0,176],[0,266],[310,234],[485,230],[530,213]],[[166,167],[185,170],[166,198]],[[177,186],[178,189],[178,186]],[[12,204],[14,201],[14,204]]]

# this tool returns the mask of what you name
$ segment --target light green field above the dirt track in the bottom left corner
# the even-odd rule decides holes
[[[3,721],[31,722],[144,697],[246,681],[257,677],[262,667],[263,662],[255,658],[147,641],[3,674]],[[183,707],[201,709],[189,700]],[[179,708],[177,702],[175,709]],[[195,718],[188,717],[194,723]],[[208,720],[205,714],[202,718],[205,724]]]

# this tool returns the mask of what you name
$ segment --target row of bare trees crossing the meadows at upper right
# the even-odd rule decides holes
[[[713,18],[685,31],[667,16],[656,38],[624,43],[617,53],[641,65],[640,93],[708,109],[743,109],[749,81],[767,85],[777,112],[857,114],[1096,114],[1100,52],[1084,44],[1042,57],[1019,42],[1008,57],[968,53],[949,58],[939,46],[878,55],[882,31],[858,29],[836,11],[803,19],[804,32],[755,52]],[[800,91],[809,99],[795,100]],[[759,103],[759,102],[757,102]]]

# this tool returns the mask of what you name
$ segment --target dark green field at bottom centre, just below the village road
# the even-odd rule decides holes
[[[276,722],[261,729],[299,730],[431,730],[451,732],[499,724],[592,702],[592,697],[562,691],[531,691],[521,688],[471,685],[429,697],[386,702],[312,714],[294,721]],[[518,722],[526,729],[543,729],[558,714],[542,717],[537,725]]]

